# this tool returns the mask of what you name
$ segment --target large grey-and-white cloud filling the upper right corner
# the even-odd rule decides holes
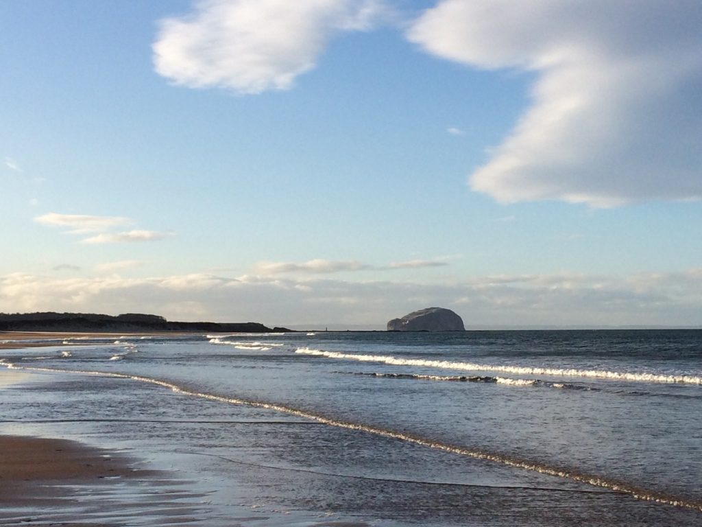
[[[458,63],[536,73],[531,106],[473,189],[609,207],[702,197],[700,27],[696,0],[443,0],[407,37]]]

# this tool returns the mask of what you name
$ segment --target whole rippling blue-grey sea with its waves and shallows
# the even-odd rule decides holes
[[[119,483],[115,523],[702,525],[702,331],[64,344],[0,351],[31,374],[0,391],[0,432],[168,471],[158,503]]]

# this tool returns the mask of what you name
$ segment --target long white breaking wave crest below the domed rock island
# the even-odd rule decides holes
[[[298,348],[295,353],[310,356],[321,356],[341,360],[358,360],[365,363],[383,363],[394,366],[436,367],[446,370],[470,370],[484,372],[503,372],[515,375],[553,375],[556,377],[588,377],[632,382],[661,382],[669,384],[702,384],[698,375],[665,375],[644,372],[613,372],[607,370],[578,370],[576,368],[508,366],[453,362],[451,360],[428,360],[420,358],[397,358],[389,355],[359,355],[355,353],[340,353],[321,349]]]

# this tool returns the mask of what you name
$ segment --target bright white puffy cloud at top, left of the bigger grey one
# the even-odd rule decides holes
[[[284,90],[311,70],[334,36],[367,30],[380,0],[207,0],[161,20],[156,71],[191,88]]]

